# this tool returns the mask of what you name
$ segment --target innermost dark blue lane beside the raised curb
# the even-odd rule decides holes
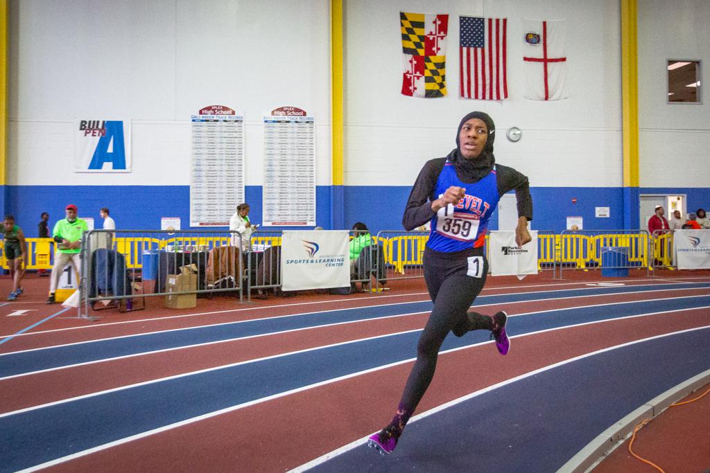
[[[555,472],[623,416],[708,369],[710,350],[699,347],[709,343],[705,328],[586,357],[410,423],[391,455],[361,445],[312,471]]]

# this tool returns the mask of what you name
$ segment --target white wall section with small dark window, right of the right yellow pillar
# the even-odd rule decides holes
[[[710,186],[710,1],[638,2],[640,187]],[[667,61],[701,61],[701,105],[667,104]]]

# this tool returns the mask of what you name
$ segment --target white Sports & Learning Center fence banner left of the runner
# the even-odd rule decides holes
[[[350,286],[347,230],[287,230],[281,242],[284,291]]]

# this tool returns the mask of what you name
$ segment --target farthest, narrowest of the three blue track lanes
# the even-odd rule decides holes
[[[474,306],[480,306],[482,304],[506,304],[514,301],[530,301],[535,299],[589,296],[592,294],[608,295],[644,290],[672,291],[674,289],[698,289],[704,287],[710,287],[710,284],[655,284],[646,286],[594,287],[589,289],[532,292],[527,294],[505,294],[500,296],[481,296],[476,299]],[[63,347],[48,347],[41,350],[18,352],[15,354],[8,353],[0,355],[0,378],[39,371],[40,369],[50,369],[75,365],[77,363],[106,360],[107,358],[113,357],[135,355],[136,353],[178,348],[220,340],[231,340],[252,335],[264,335],[283,330],[316,327],[329,323],[343,323],[405,313],[426,312],[431,311],[431,309],[432,303],[430,301],[393,304],[391,306],[351,308],[339,311],[308,313],[298,316],[225,323],[199,328],[185,328],[170,330],[168,332],[148,333],[146,335],[131,335],[110,340],[77,343]]]

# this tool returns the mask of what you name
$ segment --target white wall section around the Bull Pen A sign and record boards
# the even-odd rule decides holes
[[[263,113],[316,118],[331,182],[327,0],[14,0],[8,184],[190,184],[190,115],[245,114],[246,184],[262,182]],[[78,118],[132,120],[133,172],[72,171]]]

